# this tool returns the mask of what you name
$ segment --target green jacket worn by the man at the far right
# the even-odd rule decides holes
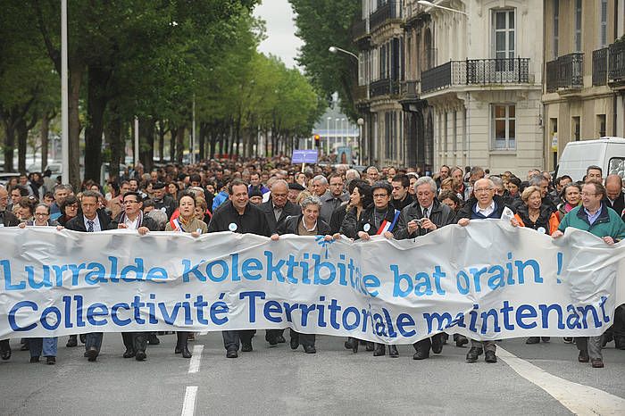
[[[625,222],[621,220],[618,213],[612,210],[612,208],[605,206],[604,203],[601,204],[601,213],[599,213],[599,217],[593,225],[590,225],[588,222],[584,206],[576,206],[568,214],[564,215],[558,229],[563,232],[568,227],[583,229],[596,237],[612,237],[614,241],[625,238]]]

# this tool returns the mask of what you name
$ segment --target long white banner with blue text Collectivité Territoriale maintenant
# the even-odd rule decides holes
[[[288,327],[387,344],[442,330],[596,336],[625,303],[625,243],[577,229],[553,240],[504,220],[356,243],[43,228],[0,238],[0,339]]]

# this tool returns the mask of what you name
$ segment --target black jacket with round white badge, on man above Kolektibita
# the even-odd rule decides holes
[[[230,229],[230,224],[232,228]],[[253,204],[247,204],[243,215],[240,215],[232,201],[221,204],[219,210],[212,213],[211,222],[208,223],[208,232],[232,231],[239,234],[257,234],[271,237],[274,230],[270,229],[267,216]]]

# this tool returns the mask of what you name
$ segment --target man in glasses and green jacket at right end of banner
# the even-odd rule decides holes
[[[581,205],[573,208],[562,218],[560,226],[551,237],[560,238],[564,235],[565,229],[573,227],[603,238],[607,245],[613,245],[625,238],[625,223],[621,220],[621,216],[612,208],[608,208],[602,201],[606,195],[605,187],[600,181],[590,180],[586,182],[581,189]],[[621,322],[624,319],[622,316],[623,309],[617,309],[617,313],[621,313],[621,316],[614,316],[614,321]],[[621,343],[625,343],[621,334],[614,334],[614,337],[619,338],[619,346]],[[590,361],[593,368],[604,368],[601,337],[576,337],[575,344],[579,350],[579,362]]]

